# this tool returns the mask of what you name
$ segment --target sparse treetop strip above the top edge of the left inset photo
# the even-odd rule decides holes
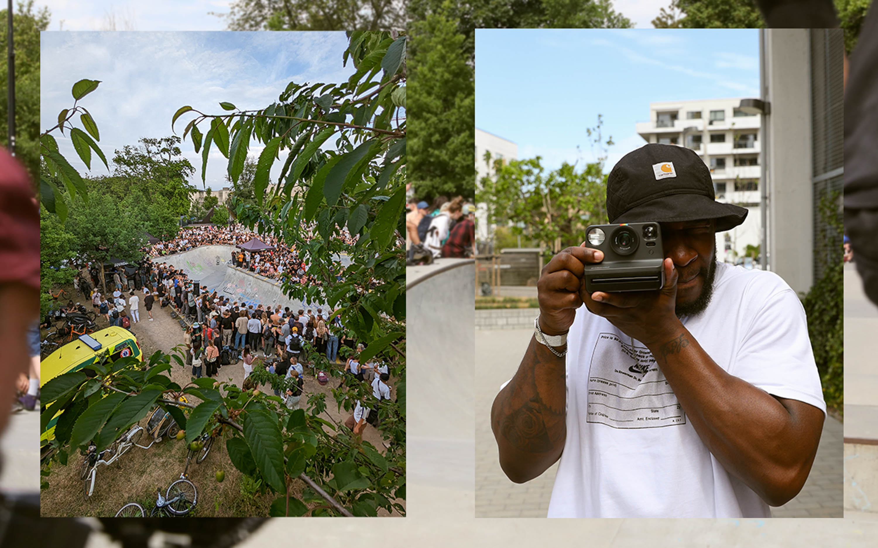
[[[238,0],[226,16],[230,31],[379,31],[405,28],[396,0]]]

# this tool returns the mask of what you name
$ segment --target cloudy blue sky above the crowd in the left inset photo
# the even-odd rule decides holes
[[[205,114],[225,113],[220,101],[241,110],[263,109],[289,82],[343,82],[354,72],[351,63],[342,68],[344,32],[42,32],[40,39],[41,127],[56,125],[58,113],[73,105],[75,82],[101,81],[82,104],[97,123],[98,145],[108,161],[114,150],[136,146],[141,137],[171,135],[171,117],[184,105]],[[183,135],[193,117],[177,120],[176,135]],[[206,133],[205,123],[199,129]],[[86,173],[69,139],[53,135],[61,153]],[[197,169],[191,182],[202,188],[201,154],[191,139],[181,149]],[[249,155],[257,158],[262,149],[251,143]],[[276,162],[272,177],[281,167]],[[226,169],[227,160],[212,147],[207,186],[229,186]],[[107,173],[93,159],[90,174]]]

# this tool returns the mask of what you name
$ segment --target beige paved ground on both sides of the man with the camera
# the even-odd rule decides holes
[[[477,310],[479,315],[487,311]],[[522,312],[531,318],[536,310]],[[544,517],[549,509],[557,465],[518,485],[500,469],[490,423],[491,404],[500,385],[518,367],[533,329],[476,331],[476,516]],[[843,428],[832,416],[824,423],[817,459],[802,492],[773,509],[775,517],[843,517]]]

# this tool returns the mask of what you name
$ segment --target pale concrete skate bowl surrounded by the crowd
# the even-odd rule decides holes
[[[253,306],[260,302],[267,306],[280,304],[282,307],[290,307],[291,310],[321,306],[317,302],[304,303],[289,298],[284,295],[277,280],[232,267],[234,251],[234,246],[201,246],[184,253],[154,257],[152,260],[181,269],[191,280],[200,281],[209,291],[215,290],[233,302],[243,301]]]

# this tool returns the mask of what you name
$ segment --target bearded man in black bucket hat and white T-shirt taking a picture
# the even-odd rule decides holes
[[[611,223],[659,222],[665,286],[584,289],[568,247],[543,268],[540,316],[492,427],[523,482],[558,459],[550,517],[763,517],[802,488],[825,404],[804,310],[776,274],[716,262],[717,203],[693,151],[646,145],[613,168]],[[581,305],[585,304],[585,307]]]

